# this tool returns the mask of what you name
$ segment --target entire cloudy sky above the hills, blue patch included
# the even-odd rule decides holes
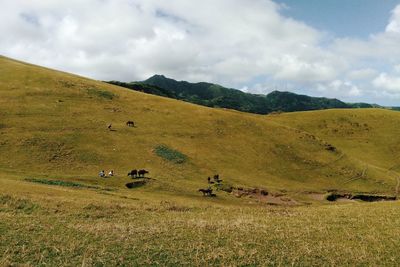
[[[0,0],[0,54],[98,80],[400,105],[400,0]],[[1,75],[1,74],[0,74]]]

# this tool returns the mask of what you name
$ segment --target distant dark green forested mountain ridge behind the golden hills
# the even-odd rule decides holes
[[[163,75],[154,75],[143,82],[124,83],[110,81],[109,83],[203,106],[229,108],[256,114],[330,108],[379,107],[378,105],[367,103],[344,103],[338,99],[310,97],[291,92],[273,91],[268,95],[250,94],[212,83],[176,81]]]

